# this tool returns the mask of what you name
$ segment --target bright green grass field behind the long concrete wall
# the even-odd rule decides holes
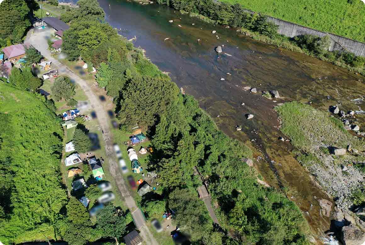
[[[365,4],[360,0],[221,0],[324,32],[365,41]]]

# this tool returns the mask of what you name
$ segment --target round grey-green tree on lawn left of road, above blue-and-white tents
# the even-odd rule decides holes
[[[68,101],[76,94],[75,88],[70,78],[58,77],[51,86],[52,97],[57,101],[62,100],[62,98]]]

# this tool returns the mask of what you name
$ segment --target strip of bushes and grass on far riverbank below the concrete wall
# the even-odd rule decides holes
[[[169,5],[183,13],[189,13],[190,16],[197,17],[208,23],[235,27],[238,29],[237,32],[251,36],[255,40],[283,47],[291,51],[311,55],[323,61],[330,62],[350,71],[356,71],[365,75],[365,58],[357,57],[353,53],[347,51],[328,51],[328,36],[320,38],[318,36],[306,34],[296,36],[294,38],[288,38],[278,34],[277,25],[273,22],[267,21],[265,15],[261,13],[248,13],[239,3],[231,5],[227,3],[215,3],[212,0],[157,0],[156,2],[158,4]],[[261,2],[258,1],[252,4],[260,5]],[[308,3],[306,4],[310,5]],[[266,6],[266,4],[262,5]],[[292,5],[297,6],[296,3],[293,3]],[[357,6],[357,4],[355,5]],[[288,8],[285,7],[283,8],[283,11],[286,12],[287,9]],[[328,15],[328,13],[326,14]],[[321,20],[325,19],[326,18],[322,18]],[[354,21],[351,23],[351,26],[358,28],[360,23],[354,23],[356,22]],[[331,27],[331,30],[332,29],[333,27]],[[349,28],[345,28],[345,30],[349,30]]]

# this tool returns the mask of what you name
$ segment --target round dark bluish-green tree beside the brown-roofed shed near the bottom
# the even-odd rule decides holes
[[[122,210],[107,205],[96,215],[96,228],[102,231],[103,237],[120,239],[126,232],[126,218]]]

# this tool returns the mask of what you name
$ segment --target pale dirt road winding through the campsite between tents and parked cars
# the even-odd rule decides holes
[[[32,30],[30,30],[32,32]],[[41,54],[48,60],[52,62],[52,66],[58,70],[59,74],[67,75],[72,81],[77,83],[84,93],[88,97],[88,100],[91,104],[91,108],[95,111],[97,120],[99,122],[100,131],[103,130],[103,140],[105,141],[105,153],[109,160],[110,164],[110,172],[115,182],[118,186],[118,190],[120,195],[123,197],[124,202],[126,203],[128,209],[130,210],[132,217],[135,221],[135,224],[139,231],[140,235],[147,244],[150,245],[158,245],[157,241],[151,234],[150,230],[146,226],[145,219],[140,209],[138,209],[134,199],[130,195],[126,183],[120,174],[118,164],[116,162],[114,151],[113,151],[113,141],[112,135],[110,133],[110,124],[109,124],[109,116],[107,112],[104,110],[103,105],[100,103],[99,98],[92,92],[88,83],[75,74],[72,70],[70,70],[67,66],[63,65],[57,59],[51,57],[50,51],[47,49],[48,44],[47,40],[54,33],[53,30],[42,30],[35,32],[31,35],[27,35],[26,42],[31,43],[33,47],[37,48]]]

